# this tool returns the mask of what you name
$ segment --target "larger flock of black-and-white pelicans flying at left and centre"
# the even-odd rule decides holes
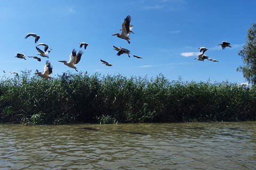
[[[132,28],[133,28],[133,25],[130,24],[131,22],[131,16],[128,15],[125,19],[124,19],[124,22],[122,23],[122,32],[121,34],[120,33],[116,33],[112,36],[117,36],[118,38],[122,38],[122,39],[125,39],[127,40],[127,42],[130,44],[130,33],[134,33],[132,31]],[[28,37],[35,37],[35,43],[37,43],[37,41],[39,40],[40,36],[36,35],[35,33],[28,33],[27,36],[25,37],[25,39],[27,39]],[[42,49],[39,48],[39,46],[44,46],[44,51]],[[88,46],[87,43],[80,43],[79,44],[79,48],[82,48],[84,46],[84,49],[86,49],[86,47]],[[129,57],[131,54],[130,53],[130,50],[126,49],[126,48],[123,48],[123,47],[115,47],[113,46],[115,50],[118,51],[117,55],[120,56],[122,54],[127,54]],[[46,58],[49,58],[49,53],[51,53],[52,49],[49,49],[49,46],[47,44],[44,44],[44,43],[39,43],[36,45],[36,50],[39,52],[39,56],[41,57],[46,57]],[[68,67],[72,68],[72,69],[75,69],[77,71],[77,67],[76,67],[76,64],[79,63],[79,61],[81,60],[81,57],[83,55],[83,51],[82,50],[79,50],[78,53],[77,53],[77,50],[76,49],[73,49],[71,54],[69,55],[69,61],[58,61],[58,62],[61,62],[65,65],[67,65]],[[142,57],[139,57],[139,56],[135,56],[133,55],[134,57],[136,58],[142,58]],[[26,60],[26,55],[24,54],[21,54],[21,53],[17,53],[17,56],[15,56],[17,58],[22,58],[24,60]],[[40,57],[37,57],[37,56],[28,56],[28,57],[31,57],[31,58],[35,58],[37,61],[41,62],[41,58]],[[112,66],[112,64],[109,64],[108,62],[106,61],[103,61],[103,60],[100,60],[102,62],[102,64],[105,64],[107,66]],[[44,79],[50,79],[50,80],[53,80],[53,78],[51,77],[51,74],[52,74],[52,65],[51,65],[51,62],[49,60],[46,61],[45,63],[45,66],[44,66],[44,71],[43,72],[39,72],[38,70],[36,70],[36,73],[39,77],[42,77]],[[78,72],[78,71],[77,71]],[[17,74],[16,72],[10,72],[10,74]]]

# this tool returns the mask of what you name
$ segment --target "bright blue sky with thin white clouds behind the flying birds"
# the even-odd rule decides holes
[[[236,72],[242,59],[237,55],[246,41],[247,29],[256,22],[256,1],[3,1],[0,6],[0,76],[9,72],[36,69],[43,71],[47,58],[16,58],[38,54],[35,46],[45,43],[52,48],[49,60],[53,78],[71,69],[58,62],[69,60],[79,43],[89,44],[77,64],[79,72],[101,75],[131,75],[149,79],[160,73],[169,80],[246,82]],[[131,44],[116,36],[131,15],[134,34]],[[37,44],[34,37],[41,36]],[[228,41],[231,48],[218,44]],[[113,45],[131,51],[117,56]],[[39,46],[43,49],[43,46]],[[219,62],[197,61],[199,47],[206,47],[210,58]],[[138,59],[132,55],[142,57]],[[113,66],[101,64],[105,60]],[[6,73],[4,73],[4,70]]]

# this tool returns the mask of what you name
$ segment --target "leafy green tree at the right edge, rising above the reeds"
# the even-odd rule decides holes
[[[239,66],[236,71],[243,73],[249,83],[256,84],[256,23],[247,29],[247,38],[243,49],[238,52],[245,65]]]

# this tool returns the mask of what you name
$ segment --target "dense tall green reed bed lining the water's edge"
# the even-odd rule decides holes
[[[0,122],[29,124],[248,121],[255,87],[235,83],[63,73],[53,81],[29,72],[2,78]]]

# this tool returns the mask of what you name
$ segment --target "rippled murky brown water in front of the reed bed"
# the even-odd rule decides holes
[[[0,169],[256,169],[256,122],[0,124]]]

